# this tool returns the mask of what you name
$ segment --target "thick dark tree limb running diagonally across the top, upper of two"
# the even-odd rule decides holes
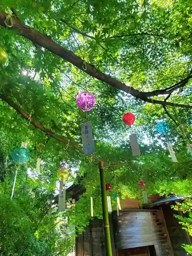
[[[6,25],[4,23],[6,19],[7,14],[5,12],[0,12],[0,26],[5,27]],[[12,30],[15,30],[15,32],[21,36],[24,36],[31,40],[33,44],[37,44],[41,47],[44,47],[45,49],[49,50],[50,52],[54,53],[57,56],[60,56],[61,58],[65,59],[66,61],[69,61],[74,66],[76,66],[78,69],[82,70],[83,72],[89,74],[92,77],[95,77],[96,79],[103,81],[105,83],[110,84],[110,86],[119,89],[125,93],[129,93],[132,96],[136,97],[137,99],[141,99],[146,102],[161,104],[161,105],[174,105],[178,106],[180,108],[189,108],[191,109],[192,106],[183,105],[183,104],[175,104],[172,102],[166,102],[166,101],[160,101],[160,100],[151,100],[148,97],[154,96],[154,95],[163,95],[167,94],[166,89],[160,90],[160,92],[154,93],[154,92],[140,92],[133,87],[126,86],[126,84],[114,79],[110,75],[106,75],[100,70],[96,69],[93,65],[89,64],[88,62],[85,62],[83,59],[76,56],[73,52],[67,50],[66,48],[60,46],[50,36],[44,35],[42,33],[39,33],[38,31],[30,28],[29,26],[26,26],[19,22],[18,19],[16,19],[14,16],[12,17],[13,20],[13,28]],[[86,66],[86,68],[84,68]]]

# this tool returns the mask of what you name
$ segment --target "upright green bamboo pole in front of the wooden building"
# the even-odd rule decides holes
[[[111,236],[110,236],[110,224],[109,224],[109,216],[108,216],[108,203],[106,202],[103,162],[99,163],[99,173],[100,173],[100,183],[101,183],[105,252],[106,252],[106,256],[113,256],[112,246],[111,246]]]

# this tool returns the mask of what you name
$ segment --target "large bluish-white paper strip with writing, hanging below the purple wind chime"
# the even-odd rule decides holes
[[[91,121],[82,123],[81,136],[84,155],[95,153]]]

